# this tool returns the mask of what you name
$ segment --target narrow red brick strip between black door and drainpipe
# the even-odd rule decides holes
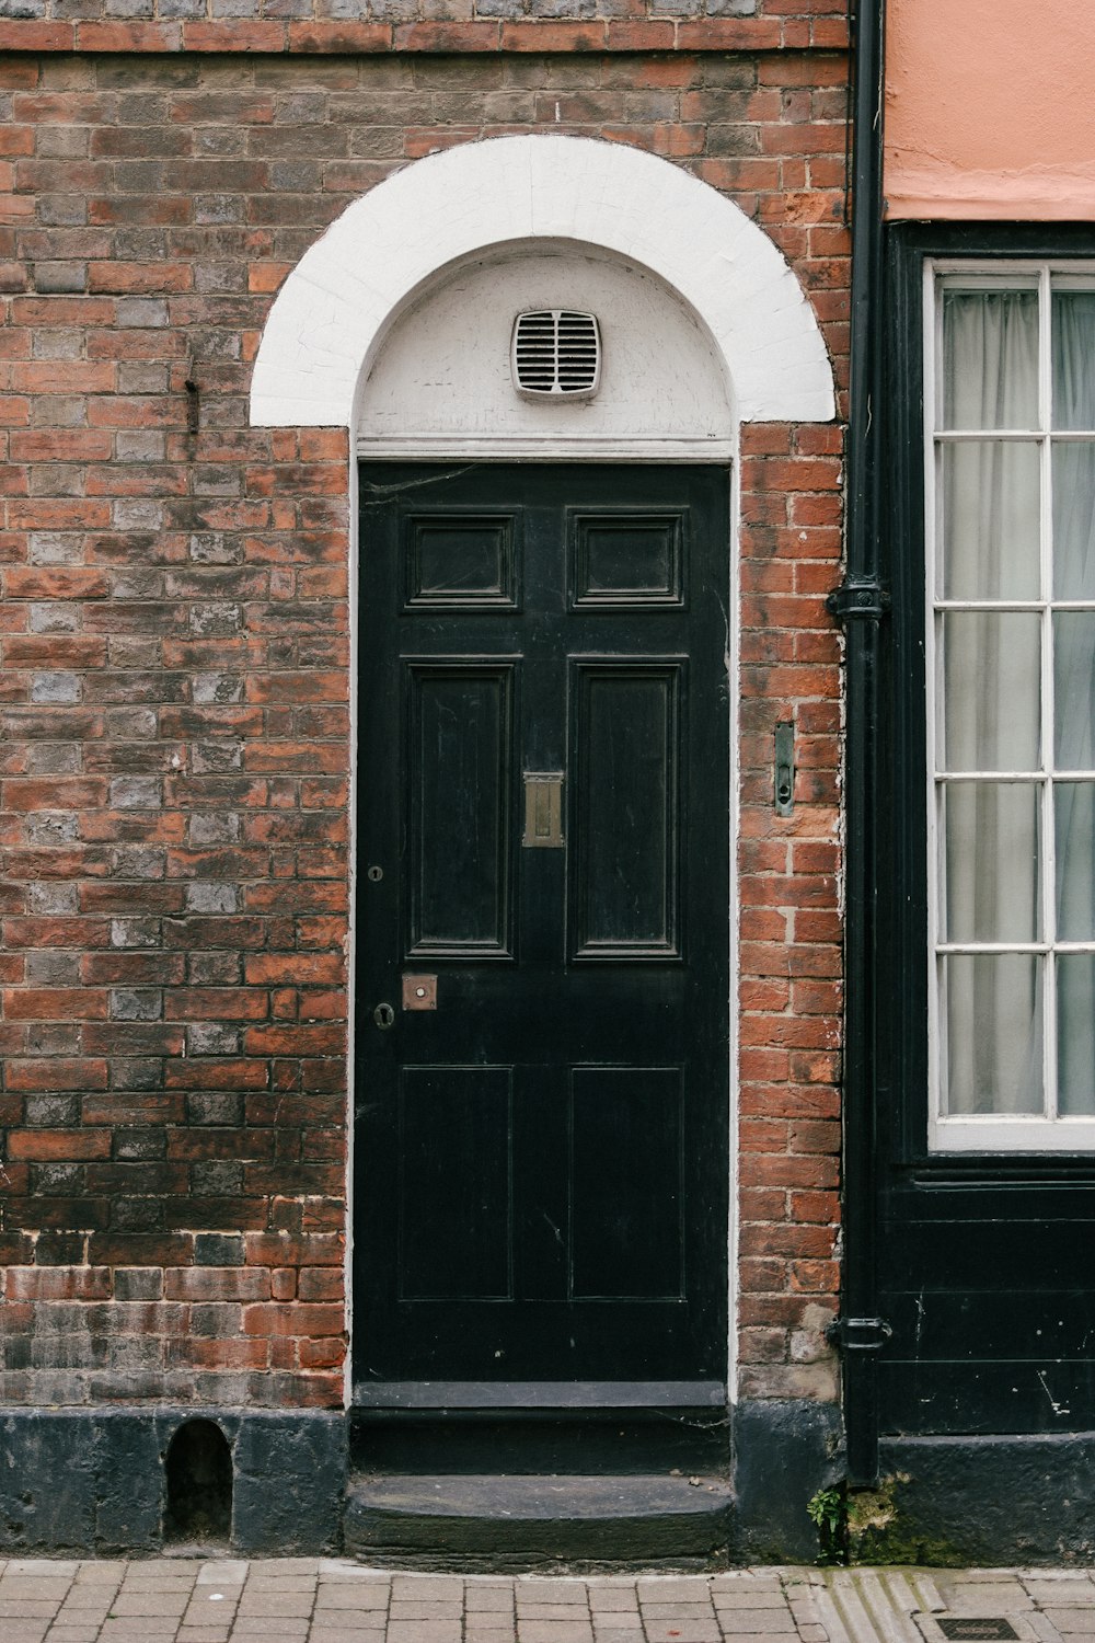
[[[822,240],[829,251],[839,248]],[[832,306],[844,265],[829,269]],[[834,1398],[841,1219],[839,427],[742,429],[739,1388]],[[795,813],[773,734],[795,725]]]

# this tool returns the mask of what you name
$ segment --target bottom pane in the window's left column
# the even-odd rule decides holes
[[[942,963],[944,1112],[1042,1111],[1042,961],[1031,953]]]

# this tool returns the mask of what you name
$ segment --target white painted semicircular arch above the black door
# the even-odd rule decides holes
[[[489,246],[589,245],[650,269],[709,334],[742,422],[827,422],[832,368],[773,242],[731,200],[624,143],[499,136],[387,177],[304,255],[269,312],[254,427],[355,427],[391,325]]]

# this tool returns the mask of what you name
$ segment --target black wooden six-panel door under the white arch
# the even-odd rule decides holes
[[[363,468],[363,1401],[724,1380],[727,491]]]

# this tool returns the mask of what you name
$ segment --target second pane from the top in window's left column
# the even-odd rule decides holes
[[[1033,442],[942,447],[944,598],[1038,598],[1039,491]]]

